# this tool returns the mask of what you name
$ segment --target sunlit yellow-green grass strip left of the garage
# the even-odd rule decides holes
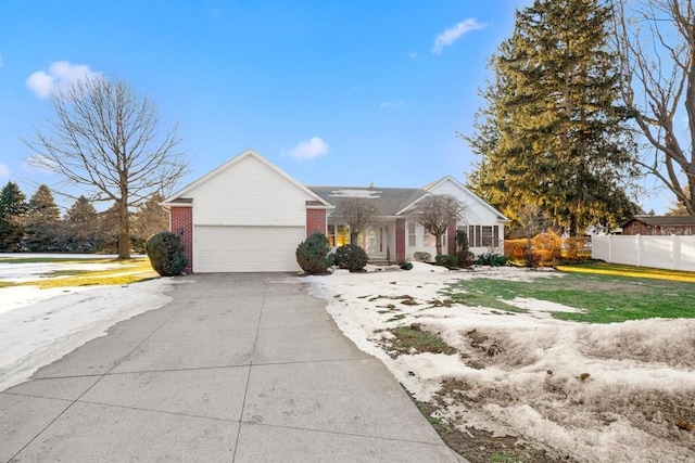
[[[36,280],[23,282],[2,282],[0,288],[12,286],[36,286],[40,290],[70,286],[125,285],[157,276],[152,270],[149,259],[71,259],[71,258],[10,258],[0,259],[10,263],[114,263],[116,267],[105,270],[64,269],[36,275]]]

